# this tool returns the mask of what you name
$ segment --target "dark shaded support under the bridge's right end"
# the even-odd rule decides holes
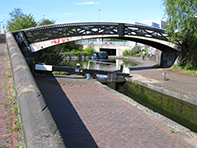
[[[178,51],[163,51],[161,54],[160,67],[162,68],[171,67],[175,63],[178,55],[179,55]]]

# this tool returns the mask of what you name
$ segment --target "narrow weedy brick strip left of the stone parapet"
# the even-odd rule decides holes
[[[8,79],[6,77],[5,44],[0,44],[0,147],[11,147],[11,136],[9,134],[10,114],[6,107],[8,104]],[[7,144],[6,144],[7,143]]]

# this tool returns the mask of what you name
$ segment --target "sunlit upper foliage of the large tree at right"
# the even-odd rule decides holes
[[[197,38],[197,1],[165,0],[167,33],[172,42]]]

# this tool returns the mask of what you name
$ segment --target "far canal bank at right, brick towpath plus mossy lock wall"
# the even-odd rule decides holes
[[[132,60],[141,64],[130,68],[132,78],[118,91],[197,132],[197,77],[151,68],[155,63],[149,59]]]

